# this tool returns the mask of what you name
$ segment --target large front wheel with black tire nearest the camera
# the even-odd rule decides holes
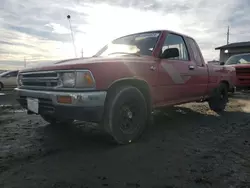
[[[141,136],[148,110],[139,89],[133,86],[115,88],[106,105],[104,128],[118,144],[129,144]]]

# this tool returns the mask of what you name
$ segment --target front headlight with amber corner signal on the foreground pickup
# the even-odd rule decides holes
[[[90,71],[60,73],[61,86],[65,88],[94,88],[95,80]]]

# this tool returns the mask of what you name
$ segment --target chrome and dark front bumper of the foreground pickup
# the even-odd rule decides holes
[[[27,107],[27,98],[39,101],[38,114],[51,114],[59,119],[100,122],[103,117],[106,91],[57,92],[15,89],[17,100]],[[58,97],[71,97],[71,103],[59,103]]]

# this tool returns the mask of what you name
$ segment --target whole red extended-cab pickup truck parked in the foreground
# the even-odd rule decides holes
[[[51,124],[98,122],[119,144],[136,140],[155,108],[208,101],[216,112],[235,68],[208,65],[191,37],[166,30],[115,39],[90,58],[24,69],[18,101]]]

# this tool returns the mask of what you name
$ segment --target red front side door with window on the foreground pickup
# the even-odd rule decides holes
[[[165,105],[187,101],[189,98],[187,84],[191,79],[190,69],[195,64],[190,60],[187,45],[182,36],[167,34],[162,52],[168,48],[177,48],[179,57],[161,59],[159,66],[159,87]]]

